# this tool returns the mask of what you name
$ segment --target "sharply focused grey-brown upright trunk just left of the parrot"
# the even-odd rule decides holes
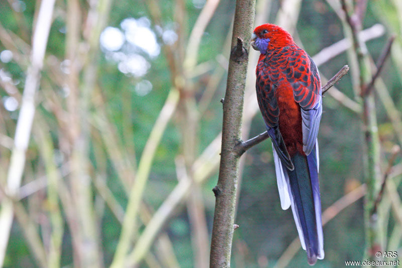
[[[244,87],[248,65],[249,40],[254,23],[255,1],[236,1],[225,102],[223,104],[222,150],[211,241],[211,267],[230,267]]]

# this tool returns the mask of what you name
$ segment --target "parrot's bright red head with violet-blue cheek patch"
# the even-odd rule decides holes
[[[251,46],[262,54],[275,48],[294,44],[291,35],[275,24],[263,24],[254,29]]]

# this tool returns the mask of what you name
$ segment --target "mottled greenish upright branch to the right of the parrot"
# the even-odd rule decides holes
[[[366,252],[365,258],[375,260],[375,252],[383,250],[381,242],[381,226],[377,215],[373,215],[373,206],[378,195],[381,183],[380,177],[380,159],[379,159],[379,138],[377,118],[375,114],[375,102],[372,94],[361,94],[365,91],[366,85],[372,80],[370,60],[365,44],[359,40],[358,32],[361,29],[365,10],[365,4],[357,5],[351,11],[345,0],[342,0],[342,9],[345,12],[346,22],[352,32],[352,43],[354,53],[358,64],[358,86],[363,104],[363,125],[362,131],[365,141],[364,154],[364,174],[367,185],[367,194],[365,197],[364,215],[365,215],[365,233],[366,233]],[[364,258],[364,259],[365,259]]]

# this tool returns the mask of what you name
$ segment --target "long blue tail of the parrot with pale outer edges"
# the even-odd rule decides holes
[[[290,206],[300,243],[303,249],[307,251],[310,264],[315,264],[317,259],[324,258],[317,147],[316,144],[312,153],[308,156],[296,154],[291,157],[294,170],[289,170],[284,166],[280,168],[280,159],[275,157],[274,150],[278,190],[279,193],[282,191],[280,193],[281,203],[282,201],[285,201],[283,203],[287,203],[288,198],[283,191],[288,190]],[[281,183],[280,188],[279,182]],[[284,182],[286,182],[285,186],[287,187],[283,187]],[[282,197],[286,198],[282,200]],[[283,205],[282,208],[285,207]]]

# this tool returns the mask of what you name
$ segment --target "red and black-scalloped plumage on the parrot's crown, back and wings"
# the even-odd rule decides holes
[[[264,30],[267,33],[262,34]],[[278,116],[277,123],[289,155],[294,155],[296,151],[302,153],[300,107],[313,108],[321,95],[317,67],[310,56],[294,43],[290,34],[278,26],[264,24],[255,28],[254,33],[260,33],[261,37],[269,39],[267,53],[261,54],[258,60],[257,83],[263,81],[264,85],[274,84],[275,89],[272,90],[275,91],[277,102],[277,107],[266,109],[262,102],[268,98],[268,86],[257,86],[257,98],[262,116],[269,127],[274,127],[270,123],[275,121],[273,117]],[[269,113],[272,109],[278,109],[280,113],[278,115]]]

